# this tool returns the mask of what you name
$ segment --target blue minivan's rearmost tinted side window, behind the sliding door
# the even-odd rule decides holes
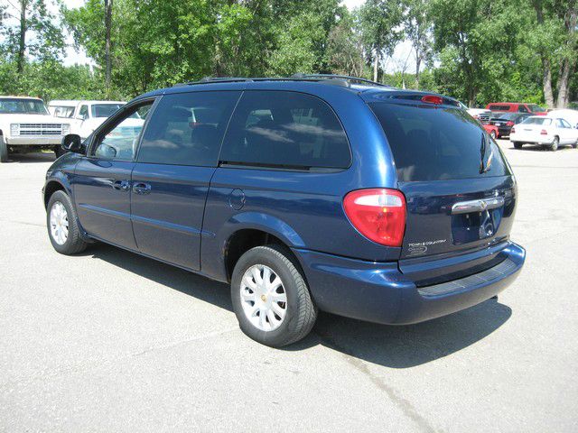
[[[287,168],[350,166],[347,136],[318,97],[285,91],[246,91],[223,142],[220,160]]]

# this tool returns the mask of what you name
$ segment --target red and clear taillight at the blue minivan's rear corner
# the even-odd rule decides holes
[[[406,229],[406,198],[396,189],[359,189],[343,199],[345,214],[361,235],[387,246],[401,246]]]

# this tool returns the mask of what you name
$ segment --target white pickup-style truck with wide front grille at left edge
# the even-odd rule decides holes
[[[69,133],[70,123],[54,120],[42,99],[0,97],[0,162],[10,152],[48,149],[60,156],[62,136]]]

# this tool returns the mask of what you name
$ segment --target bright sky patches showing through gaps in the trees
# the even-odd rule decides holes
[[[171,1],[171,0],[168,0]],[[174,1],[174,0],[173,0]],[[84,5],[84,0],[63,0],[64,5],[66,5],[69,8],[75,8],[75,7],[80,7],[82,5]],[[355,7],[359,7],[360,5],[363,5],[365,3],[365,0],[343,0],[342,4],[346,5],[350,10],[352,10]],[[58,9],[57,6],[52,4],[50,1],[47,2],[47,4],[49,5],[51,12],[52,13],[57,13]],[[70,65],[74,65],[75,63],[78,64],[94,64],[94,62],[89,59],[86,55],[86,53],[82,50],[80,51],[75,51],[74,48],[72,47],[72,36],[68,35],[68,39],[67,42],[69,43],[69,47],[67,48],[67,51],[65,53],[64,56],[64,60],[63,63],[67,66]],[[407,62],[406,67],[407,67],[407,71],[408,72],[413,72],[415,70],[415,59],[413,56],[412,51],[412,46],[411,43],[409,41],[403,41],[401,42],[397,47],[396,47],[396,51],[394,52],[394,55],[392,56],[391,59],[387,60],[387,63],[385,65],[385,69],[387,70],[387,72],[391,73],[391,72],[395,72],[398,71],[400,69],[402,69],[402,65],[404,63]]]

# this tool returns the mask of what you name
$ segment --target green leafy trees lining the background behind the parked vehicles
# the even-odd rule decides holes
[[[370,78],[378,57],[380,80],[396,87],[418,86],[470,105],[543,103],[543,61],[552,65],[556,92],[562,66],[575,70],[578,56],[571,32],[575,0],[367,0],[353,14],[340,0],[114,0],[105,91],[104,0],[62,6],[59,16],[47,13],[50,1],[60,0],[11,3],[27,11],[22,72],[17,14],[0,1],[1,94],[127,99],[205,76]],[[93,60],[91,68],[62,66],[63,29]],[[415,69],[383,70],[404,39],[422,66],[419,79]],[[576,74],[569,83],[577,100]]]

